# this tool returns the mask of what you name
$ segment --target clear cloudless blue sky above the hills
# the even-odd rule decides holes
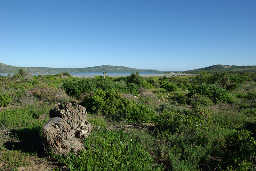
[[[256,1],[0,0],[0,62],[159,71],[256,65]]]

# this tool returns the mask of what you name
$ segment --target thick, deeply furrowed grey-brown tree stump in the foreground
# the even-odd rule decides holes
[[[44,137],[49,150],[57,155],[78,154],[84,150],[84,138],[91,134],[92,125],[86,121],[85,108],[65,102],[65,108],[57,103],[50,111],[50,120],[43,126]]]

